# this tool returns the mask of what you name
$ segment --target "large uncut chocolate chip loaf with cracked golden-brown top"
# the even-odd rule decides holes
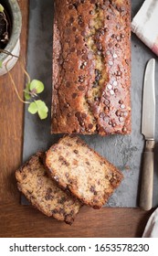
[[[131,133],[130,0],[55,0],[52,133]]]

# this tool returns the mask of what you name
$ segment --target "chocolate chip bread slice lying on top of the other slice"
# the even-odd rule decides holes
[[[114,165],[74,135],[50,147],[46,165],[60,187],[92,208],[101,208],[122,179]]]

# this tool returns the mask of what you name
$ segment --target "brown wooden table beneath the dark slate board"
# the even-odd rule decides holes
[[[19,0],[23,16],[21,57],[26,58],[28,0]],[[11,71],[20,95],[25,76],[19,63]],[[24,105],[17,100],[8,75],[0,77],[0,237],[141,237],[153,210],[82,208],[69,227],[31,206],[21,206],[15,171],[21,165]]]

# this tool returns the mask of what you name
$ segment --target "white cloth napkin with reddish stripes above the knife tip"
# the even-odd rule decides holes
[[[145,0],[132,19],[132,32],[158,55],[158,1]]]

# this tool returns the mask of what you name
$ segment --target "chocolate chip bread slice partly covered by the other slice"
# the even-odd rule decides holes
[[[47,175],[44,156],[44,153],[38,152],[16,171],[17,187],[34,207],[48,217],[72,224],[81,203],[77,198],[68,196]]]

